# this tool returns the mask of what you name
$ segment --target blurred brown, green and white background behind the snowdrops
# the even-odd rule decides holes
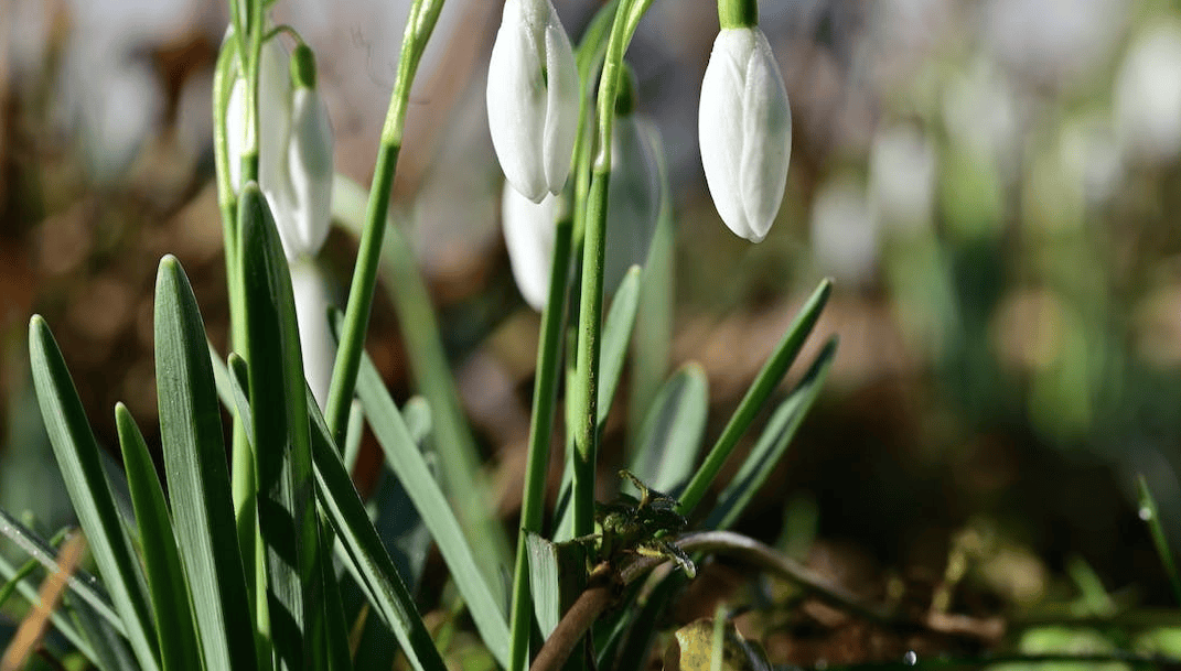
[[[742,528],[797,529],[816,539],[814,564],[846,577],[934,583],[971,547],[978,580],[1010,604],[1063,593],[1081,565],[1167,603],[1135,479],[1181,539],[1181,6],[759,5],[795,124],[784,205],[759,245],[722,224],[697,150],[716,7],[657,0],[629,51],[676,212],[668,364],[705,368],[707,440],[816,282],[836,279],[810,350],[839,334],[834,374]],[[555,6],[576,38],[598,2]],[[407,8],[274,7],[317,52],[337,169],[363,184]],[[52,324],[107,446],[119,400],[152,433],[161,255],[181,258],[226,342],[210,83],[227,18],[213,0],[0,13],[0,506],[57,528],[68,501],[33,397],[30,315]],[[448,0],[394,198],[510,520],[539,318],[500,232],[484,108],[498,21],[500,2]],[[353,252],[347,235],[329,239],[341,285]],[[370,350],[399,400],[415,389],[402,347],[381,297]],[[608,427],[605,473],[634,421]]]

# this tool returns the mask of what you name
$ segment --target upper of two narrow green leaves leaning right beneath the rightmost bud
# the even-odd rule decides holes
[[[697,504],[702,502],[705,492],[709,491],[710,485],[718,476],[730,453],[738,445],[738,439],[750,428],[755,415],[763,408],[763,403],[766,402],[768,396],[771,395],[771,392],[775,390],[775,387],[783,379],[783,374],[788,371],[788,367],[791,366],[796,355],[800,354],[800,349],[808,338],[808,334],[811,333],[816,320],[820,318],[821,309],[828,302],[833,282],[824,279],[816,291],[813,292],[811,297],[808,298],[808,302],[804,303],[804,307],[801,308],[796,321],[788,328],[783,341],[779,342],[775,353],[763,364],[763,369],[758,371],[758,377],[755,379],[750,389],[746,390],[746,395],[743,396],[738,409],[730,417],[726,428],[722,430],[722,435],[718,436],[718,441],[705,458],[705,462],[702,463],[693,479],[689,481],[689,486],[685,487],[685,492],[681,493],[680,506],[678,507],[680,514],[687,518],[693,512],[693,508],[697,507]]]

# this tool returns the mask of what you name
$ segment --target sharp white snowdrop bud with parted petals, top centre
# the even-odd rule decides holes
[[[579,119],[574,48],[549,0],[507,0],[488,65],[488,126],[504,177],[541,203],[570,171]]]

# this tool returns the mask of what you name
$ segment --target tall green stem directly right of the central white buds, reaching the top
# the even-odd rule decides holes
[[[579,309],[578,379],[579,427],[574,454],[574,535],[594,532],[594,471],[598,452],[599,340],[602,328],[602,270],[607,228],[607,182],[611,173],[611,134],[624,53],[639,17],[652,0],[620,2],[607,40],[599,80],[598,145],[587,196],[582,243],[582,289]]]

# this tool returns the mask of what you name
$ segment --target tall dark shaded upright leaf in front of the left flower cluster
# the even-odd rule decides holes
[[[312,450],[291,271],[257,184],[239,198],[246,301],[246,360],[254,416],[252,445],[259,529],[266,547],[267,600],[274,650],[302,667],[311,632],[322,626],[320,541],[312,499]],[[283,390],[292,393],[283,393]]]

